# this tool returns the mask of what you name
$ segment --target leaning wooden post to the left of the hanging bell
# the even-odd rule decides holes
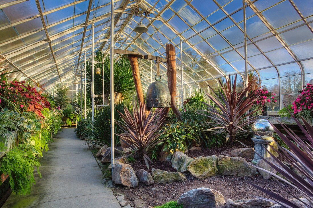
[[[140,79],[140,72],[139,72],[139,66],[138,66],[138,58],[137,58],[137,56],[129,55],[128,59],[131,63],[131,69],[133,72],[133,78],[134,78],[134,82],[135,82],[137,98],[141,104],[145,104],[145,98],[143,96],[141,79]],[[150,109],[146,108],[146,117],[148,116],[149,112],[150,112]]]

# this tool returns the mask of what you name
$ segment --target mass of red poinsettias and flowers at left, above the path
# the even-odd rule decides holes
[[[51,108],[48,100],[36,88],[26,84],[25,81],[13,81],[9,82],[9,84],[3,81],[2,85],[0,85],[0,96],[4,98],[0,101],[2,106],[12,109],[14,105],[13,108],[20,111],[34,112],[42,118],[44,118],[44,115],[41,113],[41,110]]]

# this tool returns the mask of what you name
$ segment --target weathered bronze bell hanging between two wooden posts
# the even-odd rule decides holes
[[[155,79],[156,79],[155,75]],[[160,80],[161,80],[161,76]],[[147,90],[146,96],[147,108],[165,108],[171,107],[171,94],[167,85],[164,82],[158,81],[150,84]]]

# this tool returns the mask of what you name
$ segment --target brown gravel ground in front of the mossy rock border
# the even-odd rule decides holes
[[[274,181],[264,180],[260,175],[251,177],[216,175],[202,180],[196,179],[188,173],[185,173],[185,175],[187,176],[187,181],[185,182],[174,182],[168,184],[154,183],[149,186],[140,183],[140,185],[136,188],[117,186],[114,189],[118,192],[124,193],[129,204],[132,206],[135,206],[133,201],[136,199],[144,200],[147,206],[162,205],[171,200],[178,200],[180,195],[188,190],[201,187],[220,191],[224,195],[225,201],[227,199],[251,199],[254,198],[254,196],[267,197],[267,195],[263,192],[249,185],[247,181],[253,182],[256,185],[283,195],[288,199],[293,198],[291,195],[282,192],[281,188],[277,186]],[[156,189],[152,191],[152,188]]]

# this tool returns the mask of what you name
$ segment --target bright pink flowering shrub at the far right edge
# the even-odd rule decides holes
[[[291,108],[294,110],[293,113],[298,114],[303,110],[309,110],[313,113],[313,84],[306,84],[299,93],[301,94],[292,103]]]

